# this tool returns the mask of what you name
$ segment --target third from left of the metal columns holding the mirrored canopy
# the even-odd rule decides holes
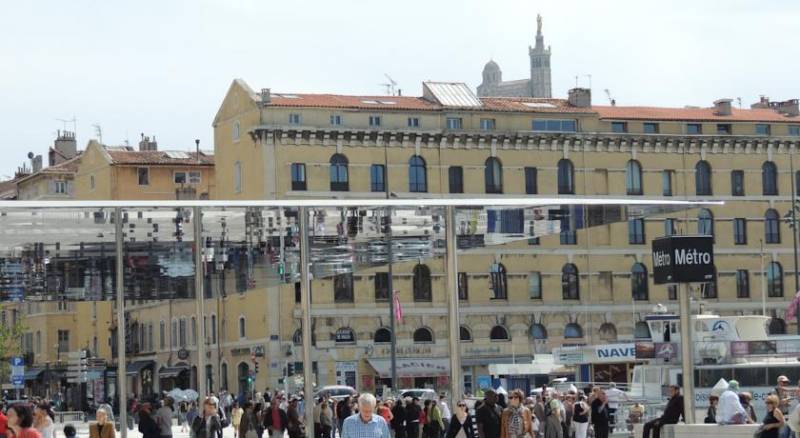
[[[314,437],[314,382],[311,361],[311,245],[308,240],[308,209],[299,208],[300,215],[300,307],[303,309],[303,386],[306,403],[306,436]]]

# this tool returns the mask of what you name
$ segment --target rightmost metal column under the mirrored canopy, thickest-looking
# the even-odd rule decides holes
[[[445,210],[445,272],[447,273],[447,327],[450,342],[450,406],[455,409],[458,400],[463,396],[463,379],[461,377],[461,319],[458,314],[458,254],[456,250],[456,218],[455,207],[447,206]]]

